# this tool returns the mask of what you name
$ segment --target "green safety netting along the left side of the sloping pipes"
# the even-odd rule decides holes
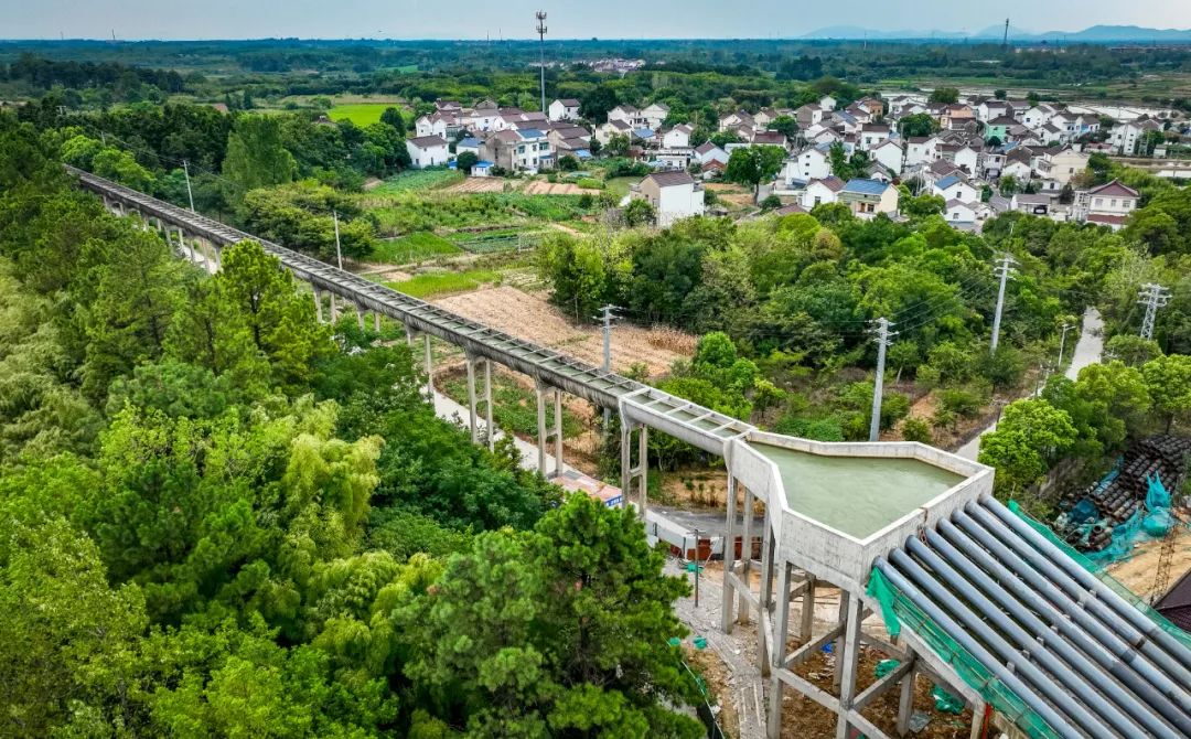
[[[947,632],[939,623],[911,603],[879,570],[873,570],[873,575],[868,579],[868,596],[880,604],[885,627],[891,636],[899,634],[904,623],[925,641],[940,659],[949,664],[960,679],[979,693],[994,710],[1012,721],[1028,737],[1036,739],[1059,737],[1042,720],[1042,716],[1017,697],[1017,694],[1006,688],[959,642],[947,635]]]

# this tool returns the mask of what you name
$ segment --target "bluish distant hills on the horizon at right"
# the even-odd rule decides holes
[[[838,38],[838,39],[862,39],[873,41],[897,41],[897,39],[923,39],[937,38],[941,41],[980,39],[1000,41],[1005,33],[1005,26],[992,25],[974,33],[964,31],[939,31],[939,30],[900,30],[878,31],[861,26],[828,26],[812,31],[803,38]],[[1011,42],[1042,42],[1061,41],[1066,43],[1090,43],[1103,44],[1111,42],[1156,42],[1156,43],[1191,43],[1191,30],[1179,29],[1146,29],[1141,26],[1108,26],[1099,25],[1083,31],[1050,31],[1047,33],[1035,33],[1014,26],[1009,27],[1009,41]]]

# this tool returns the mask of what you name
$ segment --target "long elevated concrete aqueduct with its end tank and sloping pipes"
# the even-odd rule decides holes
[[[218,268],[224,247],[252,238],[102,178],[70,172],[108,210],[139,217],[192,261]],[[401,322],[411,344],[423,337],[428,374],[431,337],[461,347],[473,440],[480,403],[491,428],[491,364],[497,362],[537,384],[542,467],[550,440],[561,465],[562,393],[618,410],[622,489],[626,499],[636,492],[642,514],[649,429],[721,455],[729,474],[725,540],[740,536],[744,542],[742,557],[725,546],[722,628],[757,621],[762,675],[769,679],[769,737],[781,733],[786,688],[834,712],[836,737],[862,732],[869,739],[888,734],[865,716],[866,708],[899,688],[896,731],[906,735],[915,675],[962,696],[973,712],[973,738],[985,728],[986,706],[996,709],[993,722],[1019,735],[1191,737],[1191,650],[997,503],[991,468],[918,443],[822,443],[766,434],[255,241],[312,287],[319,319],[325,293],[331,319],[341,306],[351,306],[361,325],[368,312],[378,325],[380,316]],[[481,370],[482,399],[476,393]],[[545,422],[550,402],[554,429]],[[743,510],[737,511],[741,493]],[[753,530],[757,507],[763,507],[763,521],[761,530]],[[752,546],[757,538],[759,560]],[[898,598],[869,595],[874,579]],[[840,590],[838,617],[816,634],[816,590],[828,585]],[[887,641],[861,631],[877,611],[886,623],[900,619],[898,636]],[[836,656],[831,690],[796,672],[828,644]],[[862,644],[898,665],[858,691]]]

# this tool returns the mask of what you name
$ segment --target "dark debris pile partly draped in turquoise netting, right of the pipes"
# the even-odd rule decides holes
[[[1172,493],[1183,483],[1189,457],[1189,437],[1160,435],[1134,443],[1103,479],[1068,501],[1055,532],[1100,566],[1127,558],[1142,535],[1165,536],[1176,523]]]

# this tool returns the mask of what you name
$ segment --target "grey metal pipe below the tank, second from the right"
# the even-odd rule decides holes
[[[1180,700],[1179,697],[1183,689],[1176,684],[1170,676],[1165,675],[1161,670],[1158,670],[1152,664],[1142,659],[1141,656],[1133,648],[1133,645],[1130,645],[1118,633],[1114,632],[1099,620],[1092,617],[1087,610],[1080,607],[1078,600],[1064,594],[1054,583],[1043,577],[1040,571],[1036,571],[1034,566],[1027,564],[1025,560],[1018,557],[1017,553],[1003,544],[1003,541],[998,538],[1006,534],[1003,527],[997,527],[997,533],[993,534],[989,529],[979,526],[974,518],[965,514],[956,514],[953,518],[956,524],[971,534],[977,541],[980,542],[981,546],[989,549],[1000,561],[1005,563],[1005,565],[1008,565],[1009,569],[1018,577],[1024,579],[1030,588],[1035,589],[1043,597],[1049,600],[1055,608],[1062,611],[1065,617],[1074,620],[1075,623],[1086,629],[1089,634],[1102,646],[1111,651],[1124,664],[1135,670],[1143,681],[1161,691],[1167,700],[1173,702],[1176,707],[1176,715],[1187,715],[1187,712],[1181,708],[1181,706],[1185,704],[1185,698]],[[948,532],[947,526],[941,526],[940,528],[944,533]],[[1012,582],[1012,578],[1006,578],[1006,582]],[[1161,709],[1161,703],[1154,703],[1155,709]],[[1161,713],[1167,719],[1171,719],[1167,710],[1161,709]]]

